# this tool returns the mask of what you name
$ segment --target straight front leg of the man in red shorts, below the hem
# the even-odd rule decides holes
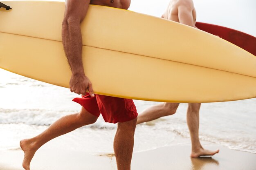
[[[130,170],[136,122],[137,117],[130,121],[118,123],[114,139],[114,151],[118,170]]]

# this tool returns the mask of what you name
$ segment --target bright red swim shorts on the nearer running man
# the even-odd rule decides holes
[[[86,93],[82,98],[74,98],[73,101],[81,104],[92,115],[99,117],[109,123],[125,122],[135,119],[138,116],[135,104],[132,99],[123,99],[94,94],[91,97]]]

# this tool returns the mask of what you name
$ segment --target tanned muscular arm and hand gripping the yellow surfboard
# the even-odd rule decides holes
[[[65,14],[62,22],[62,41],[72,77],[70,91],[85,95],[86,89],[93,97],[92,84],[85,76],[82,62],[82,34],[80,23],[85,18],[90,0],[66,0]]]

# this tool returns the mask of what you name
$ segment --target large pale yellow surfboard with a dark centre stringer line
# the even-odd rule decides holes
[[[0,68],[69,87],[64,2],[6,1]],[[81,23],[85,75],[102,95],[162,102],[256,97],[256,57],[214,35],[128,10],[90,5]]]

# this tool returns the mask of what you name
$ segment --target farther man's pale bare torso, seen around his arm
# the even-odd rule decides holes
[[[165,18],[167,20],[172,20],[175,22],[180,22],[179,16],[178,16],[178,7],[182,3],[182,1],[184,1],[184,0],[171,0],[170,4],[168,5],[168,8],[162,15],[162,18]],[[191,2],[193,3],[192,0],[191,0]],[[194,24],[195,24],[195,20],[196,20],[195,8],[193,8],[192,15],[193,15]]]

